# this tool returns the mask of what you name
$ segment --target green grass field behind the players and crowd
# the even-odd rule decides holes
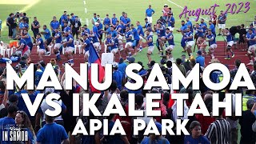
[[[238,2],[247,2],[247,1],[240,1],[240,0],[233,0],[232,3]],[[79,18],[82,20],[82,24],[88,24],[91,27],[90,18],[92,18],[94,13],[97,13],[104,18],[106,14],[117,14],[119,18],[122,11],[125,11],[128,14],[128,17],[131,19],[133,23],[136,21],[140,21],[142,25],[144,24],[145,18],[145,10],[148,5],[152,5],[152,8],[155,10],[155,14],[153,16],[153,21],[156,21],[162,15],[162,7],[164,4],[168,4],[173,10],[174,18],[176,21],[175,28],[178,29],[180,27],[180,22],[185,19],[184,15],[182,18],[178,18],[178,15],[182,13],[182,8],[184,6],[188,7],[188,10],[196,10],[198,8],[202,9],[209,9],[210,6],[213,6],[215,3],[219,5],[215,10],[217,10],[217,15],[219,14],[220,10],[226,10],[226,1],[222,0],[211,0],[211,1],[198,1],[198,0],[186,0],[186,1],[178,1],[178,0],[144,0],[144,1],[137,1],[137,0],[129,0],[129,1],[119,1],[119,0],[74,0],[64,1],[64,0],[2,0],[0,2],[0,19],[2,19],[2,40],[3,42],[9,42],[7,39],[8,30],[5,24],[5,20],[7,15],[11,12],[15,13],[19,12],[26,12],[27,16],[33,18],[34,16],[38,17],[38,21],[41,23],[41,26],[46,24],[49,26],[52,17],[55,15],[57,18],[60,18],[63,11],[66,10],[68,14],[74,13],[78,15]],[[239,7],[239,6],[238,6]],[[254,20],[254,8],[256,7],[256,1],[250,0],[250,10],[245,14],[240,12],[238,14],[228,14],[226,26],[236,26],[240,25],[241,23],[247,24],[249,26],[249,20]],[[85,10],[86,8],[86,10]],[[242,10],[246,10],[244,7]],[[206,15],[202,15],[202,18],[208,18]],[[190,17],[193,18],[195,17]],[[32,22],[33,19],[30,19]],[[88,23],[87,23],[88,22]],[[30,31],[31,32],[31,31]],[[181,46],[180,46],[180,39],[181,34],[177,34],[174,32],[174,41],[176,42],[176,47],[173,52],[174,58],[180,57],[181,53]],[[218,40],[222,40],[222,37],[218,37]],[[155,39],[154,39],[155,40]],[[160,57],[158,57],[157,49],[154,50],[153,59],[158,61]],[[136,60],[140,60],[142,62],[147,62],[146,58],[146,50],[143,50],[141,54],[135,56]]]

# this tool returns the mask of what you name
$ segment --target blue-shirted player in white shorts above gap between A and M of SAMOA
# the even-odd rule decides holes
[[[173,31],[169,28],[166,28],[166,41],[168,42],[169,46],[166,47],[166,58],[170,59],[170,61],[174,61],[173,54],[171,52],[174,50],[174,34]]]

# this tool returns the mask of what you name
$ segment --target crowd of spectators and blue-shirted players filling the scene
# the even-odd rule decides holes
[[[234,52],[232,46],[234,45],[234,35],[239,33],[238,41],[246,43],[247,55],[250,58],[249,65],[254,66],[254,70],[250,73],[251,79],[256,84],[256,62],[253,58],[255,55],[255,22],[250,24],[250,29],[246,30],[245,26],[233,26],[230,29],[226,28],[226,14],[221,11],[221,14],[212,15],[212,18],[208,25],[201,19],[200,23],[193,23],[190,18],[186,18],[186,21],[182,21],[181,28],[175,28],[174,14],[170,7],[164,5],[162,9],[163,15],[161,18],[154,23],[152,15],[155,11],[151,6],[146,9],[145,25],[142,26],[141,22],[131,22],[128,18],[128,14],[123,12],[120,18],[113,14],[113,18],[106,14],[106,18],[102,19],[99,15],[94,14],[91,19],[93,25],[90,30],[86,25],[82,26],[78,16],[74,14],[66,14],[66,11],[62,14],[59,20],[54,16],[50,22],[50,30],[46,25],[42,26],[37,18],[34,17],[34,21],[29,25],[29,19],[26,17],[26,13],[10,14],[7,18],[7,26],[9,27],[9,38],[18,39],[19,45],[17,47],[16,54],[21,55],[21,61],[17,66],[14,67],[17,74],[22,76],[26,71],[26,68],[30,65],[31,59],[30,54],[32,50],[38,49],[38,57],[41,60],[34,65],[34,84],[35,87],[42,78],[42,74],[45,70],[46,63],[43,61],[43,55],[50,54],[49,46],[53,47],[53,53],[56,55],[56,59],[52,59],[50,63],[54,67],[55,74],[57,74],[59,81],[62,83],[64,88],[65,83],[65,72],[62,74],[60,67],[57,62],[61,60],[60,54],[62,50],[65,51],[67,62],[70,66],[74,66],[74,49],[76,42],[82,45],[85,54],[85,62],[88,62],[89,47],[90,43],[93,43],[95,50],[101,50],[102,44],[107,48],[110,53],[120,54],[120,51],[124,50],[127,56],[127,62],[134,63],[135,58],[132,57],[131,49],[134,49],[134,54],[138,51],[142,51],[142,46],[146,44],[148,47],[146,57],[148,63],[138,62],[142,66],[142,70],[134,71],[138,73],[144,80],[147,81],[150,75],[150,71],[154,67],[154,59],[151,58],[151,54],[154,50],[154,45],[158,48],[158,54],[162,55],[162,60],[159,62],[162,73],[166,78],[166,82],[171,84],[172,77],[172,65],[177,65],[179,70],[184,76],[190,74],[190,70],[199,63],[200,74],[202,74],[204,67],[206,66],[205,57],[210,55],[211,62],[218,62],[217,58],[214,58],[214,50],[217,48],[216,36],[226,36],[226,59],[234,58]],[[216,35],[215,25],[218,24],[219,34]],[[137,28],[136,28],[137,26]],[[29,28],[34,34],[34,37],[30,37],[28,33]],[[181,33],[181,46],[183,52],[188,54],[182,54],[181,58],[173,56],[172,50],[174,50],[174,34],[173,31],[176,29]],[[242,32],[242,31],[245,31]],[[154,40],[153,35],[157,35],[157,39]],[[44,39],[42,38],[42,35]],[[195,40],[194,40],[195,39]],[[208,42],[208,43],[207,43]],[[196,58],[193,56],[193,46],[198,46],[198,52]],[[208,48],[208,50],[206,50]],[[165,53],[165,54],[164,54]],[[174,59],[175,57],[175,59]],[[252,58],[253,57],[253,58]],[[115,59],[115,58],[114,58]],[[128,113],[128,94],[136,94],[135,103],[137,110],[146,110],[146,93],[161,93],[162,99],[159,101],[162,112],[161,117],[155,117],[155,124],[158,130],[161,131],[162,119],[171,119],[177,122],[177,119],[189,119],[189,123],[186,125],[186,129],[190,131],[190,135],[154,135],[143,136],[143,130],[140,134],[132,134],[133,125],[132,120],[137,117],[121,117],[118,114],[111,114],[106,119],[109,120],[108,127],[111,130],[114,126],[116,119],[122,122],[122,126],[126,131],[126,135],[103,135],[102,130],[98,130],[94,135],[71,135],[74,130],[74,126],[78,118],[81,118],[86,126],[86,130],[90,130],[90,119],[95,119],[93,114],[89,117],[74,117],[73,115],[73,98],[74,93],[79,93],[81,96],[85,93],[92,92],[89,90],[83,90],[81,86],[74,82],[73,90],[54,90],[54,88],[46,88],[46,90],[27,90],[26,86],[18,88],[15,86],[15,90],[6,90],[6,69],[2,68],[0,76],[0,126],[18,126],[25,130],[29,134],[29,140],[23,143],[238,143],[238,133],[241,134],[240,143],[255,143],[256,142],[256,130],[252,129],[252,126],[256,120],[256,96],[255,90],[246,90],[241,88],[239,90],[229,90],[226,87],[225,90],[213,91],[209,90],[200,78],[200,90],[192,90],[191,86],[187,89],[182,88],[175,90],[172,93],[188,93],[189,99],[184,103],[184,116],[177,116],[177,103],[171,99],[170,91],[154,88],[153,90],[128,90],[124,84],[126,82],[134,83],[135,80],[126,76],[126,62],[124,58],[120,58],[118,62],[113,63],[113,82],[109,90],[102,91],[101,98],[96,102],[96,106],[99,111],[103,112],[106,109],[107,103],[110,101],[112,94],[118,94],[120,102],[126,113]],[[254,59],[255,60],[255,59]],[[138,61],[142,61],[138,59]],[[232,82],[235,74],[238,71],[238,67],[242,62],[237,59],[234,62],[234,70],[230,70]],[[148,67],[148,68],[146,68]],[[222,81],[222,72],[215,70],[210,74],[212,82],[218,83]],[[44,99],[34,116],[30,115],[29,110],[21,96],[26,93],[29,95],[30,101],[34,103],[38,93],[44,93]],[[206,104],[207,110],[212,111],[212,97],[214,93],[220,95],[220,99],[223,101],[226,93],[242,93],[242,105],[243,111],[241,117],[226,117],[225,110],[219,110],[218,117],[204,117],[202,114],[196,114],[193,117],[187,116],[187,111],[190,108],[191,103],[194,101],[195,94],[202,94],[202,98]],[[45,97],[47,94],[58,93],[61,96],[61,100],[56,101],[62,106],[62,114],[57,118],[52,118],[45,114],[47,109],[52,110],[53,108],[46,104]],[[82,101],[80,101],[80,108],[82,110]],[[82,113],[81,113],[82,114]],[[98,118],[104,119],[104,117]],[[240,129],[238,129],[240,125]],[[175,128],[174,128],[175,129]],[[2,135],[3,129],[0,130]],[[7,141],[0,141],[1,143],[10,143]]]

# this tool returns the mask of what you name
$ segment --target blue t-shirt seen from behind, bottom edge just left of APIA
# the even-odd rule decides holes
[[[37,142],[43,143],[61,143],[67,139],[66,130],[57,123],[45,124],[37,134]]]

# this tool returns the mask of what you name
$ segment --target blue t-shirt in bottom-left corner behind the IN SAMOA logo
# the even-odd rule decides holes
[[[0,118],[0,134],[1,134],[0,143],[1,144],[11,144],[12,143],[10,141],[2,141],[2,132],[6,131],[6,130],[10,131],[10,127],[12,127],[12,126],[15,126],[14,118],[10,118],[10,117]],[[9,140],[9,138],[10,137],[8,137],[8,140]]]

